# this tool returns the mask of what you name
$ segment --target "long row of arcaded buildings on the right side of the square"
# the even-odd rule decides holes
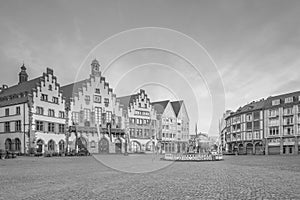
[[[239,154],[298,154],[300,91],[226,111],[220,121],[223,151]]]

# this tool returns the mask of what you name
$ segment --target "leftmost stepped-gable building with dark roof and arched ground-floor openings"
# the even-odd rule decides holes
[[[19,83],[0,92],[0,148],[20,153],[65,150],[65,99],[53,70],[32,80],[24,64]]]

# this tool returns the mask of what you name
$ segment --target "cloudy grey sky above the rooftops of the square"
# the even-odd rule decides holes
[[[50,67],[65,85],[97,58],[117,96],[183,99],[192,134],[197,123],[216,135],[225,109],[300,88],[297,0],[2,0],[0,36],[1,85],[23,62],[30,78]]]

